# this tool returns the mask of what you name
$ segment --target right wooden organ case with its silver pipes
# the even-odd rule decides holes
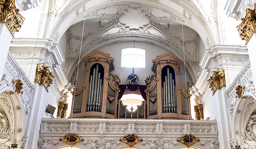
[[[147,84],[147,119],[192,120],[190,96],[180,87],[179,70],[183,61],[170,53],[152,60],[156,78]]]

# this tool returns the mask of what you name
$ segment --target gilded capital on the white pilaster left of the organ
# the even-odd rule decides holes
[[[51,72],[49,72],[49,66],[44,67],[44,63],[39,63],[36,66],[35,82],[38,82],[40,86],[44,86],[48,92],[49,86],[53,83],[55,78]]]

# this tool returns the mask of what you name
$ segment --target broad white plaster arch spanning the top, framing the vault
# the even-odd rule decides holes
[[[69,8],[67,14],[65,14],[65,16],[62,19],[55,19],[55,22],[49,27],[49,30],[45,33],[46,37],[49,37],[49,39],[57,39],[56,41],[58,42],[60,40],[60,37],[63,36],[63,34],[65,33],[65,31],[67,31],[67,29],[72,25],[75,24],[77,22],[80,22],[82,20],[84,20],[84,15],[89,14],[90,12],[93,12],[94,10],[97,10],[97,8],[100,7],[106,7],[106,6],[111,6],[111,5],[118,5],[119,3],[123,4],[123,3],[131,3],[130,1],[115,1],[115,2],[104,2],[102,1],[101,3],[94,2],[97,0],[92,0],[89,1],[88,3],[90,3],[90,6],[86,6],[86,12],[82,12],[79,16],[77,16],[77,18],[75,17],[75,11],[77,10],[77,8],[79,8],[82,5],[85,5],[86,1],[78,1],[76,2],[72,8]],[[93,4],[94,3],[94,4]],[[136,3],[136,2],[133,2]],[[152,3],[152,2],[142,2],[142,1],[138,1],[137,3],[141,4],[141,5],[147,5],[147,6],[155,6],[158,8],[163,8],[164,10],[170,11],[171,13],[177,15],[177,16],[181,16],[180,15],[180,6],[177,4],[177,2],[171,2],[168,1],[168,3],[170,3],[170,5],[168,5],[168,7],[166,5],[161,5],[159,3]],[[175,7],[176,6],[176,7]],[[184,20],[184,25],[187,25],[188,27],[194,29],[197,33],[199,33],[201,39],[203,39],[203,42],[205,45],[207,45],[206,39],[209,39],[210,44],[218,44],[218,39],[215,39],[214,37],[218,37],[217,35],[214,34],[214,32],[212,31],[212,29],[210,29],[208,27],[208,25],[204,25],[204,23],[199,19],[199,17],[196,15],[195,10],[190,10],[187,7],[184,7],[186,11],[188,11],[191,16],[192,16],[192,21],[190,22],[189,20],[183,18]],[[200,12],[198,12],[200,14]]]

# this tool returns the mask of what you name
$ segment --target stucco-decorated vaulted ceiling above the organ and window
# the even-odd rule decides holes
[[[78,8],[76,15],[79,16],[83,9]],[[114,42],[132,41],[134,37],[139,37],[141,42],[167,49],[181,58],[184,56],[192,70],[190,73],[194,76],[200,71],[199,46],[205,46],[200,45],[199,34],[184,25],[183,19],[189,20],[191,17],[187,14],[177,16],[158,7],[139,3],[119,3],[102,6],[85,14],[84,17],[85,22],[80,20],[66,31],[68,49],[65,67],[68,72],[79,58],[81,38],[82,56],[88,53],[89,49],[97,49]]]

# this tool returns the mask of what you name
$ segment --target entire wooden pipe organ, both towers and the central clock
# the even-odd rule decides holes
[[[179,57],[166,53],[152,59],[152,75],[140,78],[146,85],[139,84],[135,74],[127,74],[126,83],[119,84],[118,74],[112,74],[114,60],[100,50],[82,58],[84,84],[72,92],[70,117],[192,120],[191,95],[180,86],[179,71],[184,62]],[[141,105],[129,110],[121,100],[126,92],[141,95]]]

